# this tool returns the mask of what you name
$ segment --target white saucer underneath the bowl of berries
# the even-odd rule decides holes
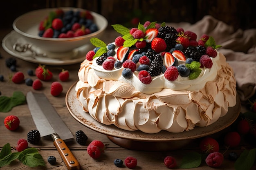
[[[11,31],[11,33],[7,34],[3,38],[2,47],[7,53],[17,58],[28,62],[45,65],[70,65],[83,62],[83,60],[85,60],[86,53],[93,49],[92,44],[86,44],[70,52],[51,53],[47,51],[42,51],[40,48],[31,45],[30,49],[34,51],[34,53],[30,49],[27,49],[24,52],[19,52],[15,50],[15,46],[17,43],[21,44],[21,47],[27,47],[28,44],[20,34],[13,30]],[[21,49],[19,48],[19,45],[16,47],[16,49]]]

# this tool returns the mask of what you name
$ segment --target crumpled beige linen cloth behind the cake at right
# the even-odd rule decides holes
[[[219,52],[223,53],[227,62],[234,70],[237,92],[241,101],[252,97],[256,91],[256,29],[234,30],[232,26],[216,20],[210,15],[204,16],[195,24],[187,22],[168,23],[184,31],[193,31],[198,35],[213,36],[216,44],[222,45]]]

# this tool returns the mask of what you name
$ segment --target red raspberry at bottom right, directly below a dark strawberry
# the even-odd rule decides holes
[[[213,152],[207,156],[207,158],[205,159],[205,162],[208,166],[216,168],[222,165],[223,159],[224,157],[222,153]]]

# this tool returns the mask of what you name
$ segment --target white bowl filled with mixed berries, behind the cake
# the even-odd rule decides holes
[[[65,53],[103,35],[108,21],[85,9],[47,8],[25,13],[13,22],[13,29],[28,44],[52,53]]]

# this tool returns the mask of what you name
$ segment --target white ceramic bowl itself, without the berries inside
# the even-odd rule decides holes
[[[103,35],[108,21],[102,15],[90,11],[94,17],[94,22],[98,26],[98,31],[87,35],[74,37],[74,38],[43,38],[38,35],[39,23],[46,16],[49,15],[50,11],[54,11],[57,8],[39,9],[25,13],[13,22],[13,29],[17,31],[27,42],[31,45],[36,46],[44,51],[63,53],[72,51],[80,46],[87,44],[91,38],[100,38]],[[84,11],[84,9],[63,7],[63,11]]]

